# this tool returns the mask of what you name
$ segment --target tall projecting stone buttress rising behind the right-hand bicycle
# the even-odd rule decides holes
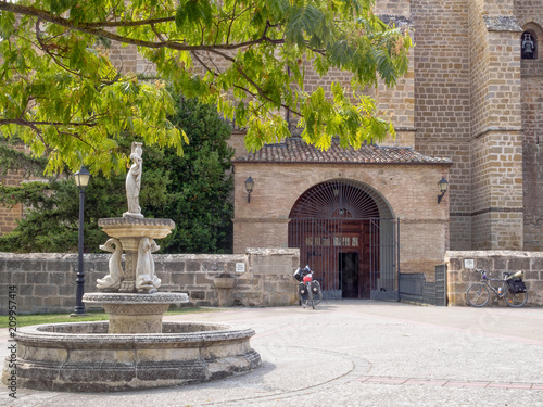
[[[512,11],[469,3],[471,247],[479,250],[519,250],[523,242],[521,29]]]

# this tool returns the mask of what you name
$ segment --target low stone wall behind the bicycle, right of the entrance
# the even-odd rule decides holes
[[[527,305],[543,306],[543,252],[517,251],[446,252],[449,305],[466,305],[466,290],[480,278],[464,267],[465,259],[473,259],[475,268],[487,270],[489,278],[502,278],[504,271],[525,271]]]

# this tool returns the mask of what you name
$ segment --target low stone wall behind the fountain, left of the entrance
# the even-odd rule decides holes
[[[85,255],[85,292],[108,274],[109,254]],[[298,249],[248,249],[244,254],[155,255],[160,291],[189,295],[198,306],[282,306],[296,303]],[[228,279],[216,279],[229,274]],[[0,253],[0,315],[16,288],[17,314],[67,313],[75,307],[77,254]],[[226,282],[226,284],[225,284]],[[217,288],[231,287],[231,288]]]

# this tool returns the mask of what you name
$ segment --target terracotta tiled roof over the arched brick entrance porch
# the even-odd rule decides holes
[[[437,158],[402,147],[364,144],[358,150],[342,149],[339,140],[320,151],[302,139],[291,138],[267,144],[254,153],[237,156],[237,163],[327,163],[327,164],[452,164],[450,158]]]

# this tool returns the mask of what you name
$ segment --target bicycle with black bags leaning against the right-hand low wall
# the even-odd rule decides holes
[[[483,307],[490,300],[490,290],[492,290],[497,300],[505,298],[508,306],[521,307],[528,302],[528,292],[522,281],[523,272],[517,271],[515,274],[504,272],[503,279],[489,279],[485,270],[476,270],[481,274],[481,279],[469,285],[466,291],[466,300],[469,305],[473,307]],[[490,282],[498,281],[500,285],[493,287]]]

